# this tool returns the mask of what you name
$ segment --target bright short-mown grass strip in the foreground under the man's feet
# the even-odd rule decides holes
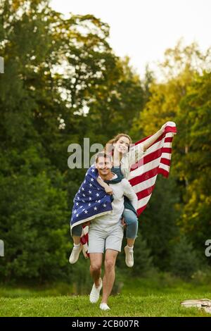
[[[207,293],[206,296],[210,296]],[[180,301],[190,299],[188,293],[132,296],[111,296],[108,312],[98,304],[90,304],[88,296],[49,296],[1,298],[0,316],[210,316],[198,308],[184,308]],[[196,296],[198,297],[198,295]]]

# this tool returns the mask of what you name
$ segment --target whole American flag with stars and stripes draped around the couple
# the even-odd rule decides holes
[[[172,156],[172,140],[177,133],[174,122],[167,122],[165,132],[146,150],[142,158],[134,163],[127,178],[138,197],[137,213],[140,216],[151,198],[158,174],[168,177],[170,173],[170,162]],[[135,145],[141,144],[151,136],[143,138]],[[89,225],[87,221],[112,211],[111,197],[98,184],[96,177],[98,172],[94,165],[87,171],[84,182],[74,199],[72,210],[71,228],[82,224],[81,242],[83,253],[87,258]]]

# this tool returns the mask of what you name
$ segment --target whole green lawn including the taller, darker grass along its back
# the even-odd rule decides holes
[[[91,288],[91,285],[90,285]],[[65,294],[65,295],[64,295]],[[211,299],[210,284],[172,277],[138,279],[110,296],[108,312],[89,303],[89,295],[72,295],[70,285],[49,289],[0,287],[0,316],[207,316],[198,308],[184,308],[186,299]]]

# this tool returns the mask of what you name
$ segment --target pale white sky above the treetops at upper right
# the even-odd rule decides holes
[[[181,38],[202,51],[211,46],[211,0],[51,0],[51,6],[108,23],[110,46],[117,56],[129,56],[141,77],[147,63],[155,68]]]

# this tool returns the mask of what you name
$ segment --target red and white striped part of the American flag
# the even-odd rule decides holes
[[[168,177],[170,173],[170,163],[172,156],[172,140],[177,133],[174,122],[167,122],[165,132],[146,150],[143,157],[132,165],[129,177],[130,184],[138,197],[137,213],[140,216],[146,208],[149,199],[155,188],[158,174]],[[135,145],[141,144],[151,136],[143,138]],[[81,242],[83,245],[84,257],[88,258],[88,232],[89,226],[83,225]]]

